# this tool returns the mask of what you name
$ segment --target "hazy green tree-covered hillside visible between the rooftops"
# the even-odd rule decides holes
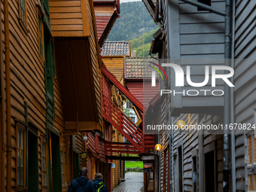
[[[120,18],[114,23],[107,41],[131,40],[136,56],[148,56],[157,25],[148,14],[143,2],[120,4]]]

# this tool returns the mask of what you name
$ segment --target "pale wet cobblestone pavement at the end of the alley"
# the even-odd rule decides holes
[[[127,172],[125,181],[114,187],[112,192],[142,192],[143,184],[143,172]]]

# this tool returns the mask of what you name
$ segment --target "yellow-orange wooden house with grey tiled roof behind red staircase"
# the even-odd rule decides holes
[[[123,85],[123,61],[126,56],[130,53],[130,43],[129,42],[118,42],[118,41],[105,41],[101,48],[102,62],[106,69],[111,72],[117,81]],[[103,76],[105,78],[105,76]],[[107,79],[107,78],[105,78]],[[109,84],[110,83],[110,84]],[[122,93],[117,91],[117,87],[114,86],[108,80],[108,92],[104,92],[105,96],[108,97],[114,105],[118,106],[121,111],[123,111],[123,103],[125,101]],[[112,140],[111,142],[124,142],[123,135],[114,126],[112,129]],[[123,156],[123,154],[113,153],[112,155]],[[120,184],[121,180],[124,178],[124,161],[112,160],[114,168],[111,169],[111,190]]]

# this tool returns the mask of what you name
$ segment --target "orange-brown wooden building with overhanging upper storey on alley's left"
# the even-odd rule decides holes
[[[102,125],[93,1],[3,1],[0,8],[7,13],[1,41],[10,44],[9,59],[1,48],[0,190],[67,191],[81,166],[108,184],[111,130]]]

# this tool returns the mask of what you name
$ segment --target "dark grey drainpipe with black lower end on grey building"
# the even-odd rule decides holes
[[[230,66],[230,15],[231,15],[231,1],[226,0],[226,16],[225,16],[225,66]],[[230,123],[230,87],[224,84],[224,168],[223,168],[223,191],[228,191],[228,181],[230,175],[229,169],[229,132],[228,125]]]

